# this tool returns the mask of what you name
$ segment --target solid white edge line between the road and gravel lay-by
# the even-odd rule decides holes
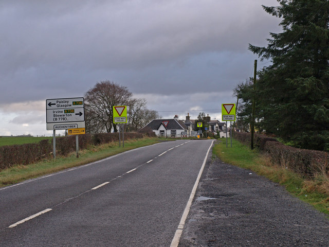
[[[181,236],[181,234],[183,232],[183,228],[184,228],[184,225],[185,225],[186,218],[187,218],[187,216],[189,214],[189,211],[190,211],[190,208],[191,208],[191,205],[192,205],[192,201],[193,201],[193,198],[195,196],[195,191],[196,191],[197,185],[199,184],[199,181],[200,181],[202,172],[204,171],[204,168],[205,168],[205,165],[206,165],[206,161],[207,161],[207,158],[208,158],[208,154],[210,152],[210,148],[212,147],[213,142],[214,141],[211,142],[211,145],[208,148],[206,157],[204,159],[204,163],[202,164],[202,167],[201,167],[201,169],[199,171],[199,174],[197,175],[197,178],[196,178],[196,181],[194,183],[194,186],[193,186],[193,189],[192,189],[192,192],[191,192],[189,201],[187,202],[186,207],[185,207],[185,210],[184,210],[184,213],[181,216],[179,225],[178,225],[177,230],[175,232],[175,236],[174,236],[174,238],[173,238],[173,240],[172,240],[172,242],[170,244],[170,247],[177,247],[178,246],[179,239],[180,239],[180,236]]]

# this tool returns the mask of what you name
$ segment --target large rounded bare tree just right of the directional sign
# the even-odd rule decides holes
[[[113,107],[126,105],[132,93],[126,86],[111,81],[101,81],[85,93],[86,128],[90,133],[117,132],[113,123]]]

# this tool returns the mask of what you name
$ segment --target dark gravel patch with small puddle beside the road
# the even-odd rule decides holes
[[[178,246],[327,247],[328,233],[328,218],[284,187],[216,159],[204,171]]]

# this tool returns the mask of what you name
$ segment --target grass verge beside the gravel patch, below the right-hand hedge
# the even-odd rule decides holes
[[[329,198],[326,193],[310,189],[316,181],[303,178],[301,175],[272,164],[266,154],[232,140],[232,148],[226,148],[226,142],[217,143],[213,154],[225,163],[250,169],[269,180],[283,185],[288,192],[302,201],[313,205],[317,210],[329,216]]]

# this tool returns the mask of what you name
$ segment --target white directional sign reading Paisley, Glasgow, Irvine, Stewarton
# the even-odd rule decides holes
[[[47,130],[85,128],[84,98],[46,100]]]

